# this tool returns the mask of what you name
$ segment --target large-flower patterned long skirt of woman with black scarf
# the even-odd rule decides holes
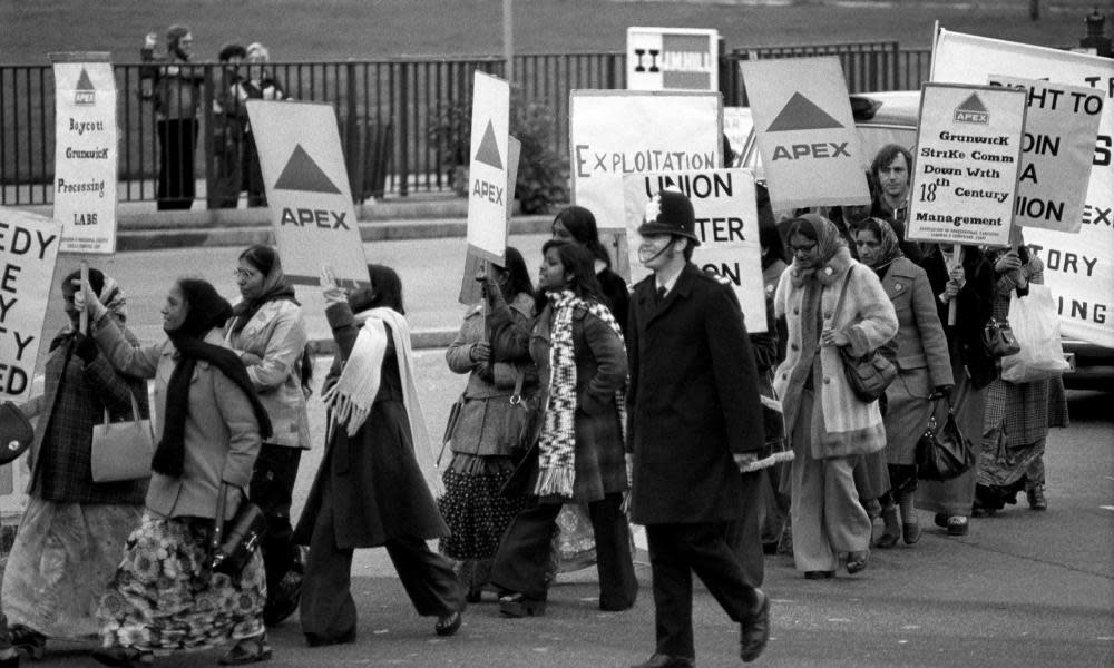
[[[205,566],[212,520],[145,512],[100,600],[105,647],[209,649],[264,632],[266,576],[258,551],[235,579]]]

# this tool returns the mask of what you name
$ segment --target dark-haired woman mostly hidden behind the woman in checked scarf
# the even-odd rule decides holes
[[[592,271],[599,282],[604,305],[610,310],[619,330],[625,334],[631,292],[626,281],[612,271],[610,255],[599,242],[596,217],[583,206],[565,207],[554,218],[550,232],[553,238],[576,244],[592,255]],[[592,518],[586,507],[570,503],[561,508],[557,515],[557,527],[559,529],[554,536],[554,562],[548,577],[588,568],[596,562]]]

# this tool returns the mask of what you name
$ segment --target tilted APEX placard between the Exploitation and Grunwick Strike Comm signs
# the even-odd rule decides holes
[[[774,208],[869,204],[862,140],[834,57],[744,60],[759,153]]]

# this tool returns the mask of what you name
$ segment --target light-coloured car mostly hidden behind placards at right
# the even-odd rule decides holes
[[[895,90],[852,95],[851,111],[862,138],[862,155],[869,159],[887,144],[899,144],[917,155],[917,122],[920,116],[919,90]],[[754,141],[754,131],[744,144],[743,155],[736,160],[752,169],[755,178],[763,180],[762,159]],[[1075,338],[1064,338],[1064,354],[1072,370],[1064,374],[1064,385],[1078,390],[1114,392],[1114,348]]]

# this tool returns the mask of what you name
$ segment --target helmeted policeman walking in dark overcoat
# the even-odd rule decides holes
[[[740,468],[764,448],[759,376],[730,286],[692,259],[692,203],[662,190],[646,205],[638,258],[653,271],[631,301],[627,452],[632,521],[646,527],[657,647],[636,668],[695,664],[692,573],[741,628],[753,661],[770,637],[770,599],[747,582],[729,528],[744,507]]]

